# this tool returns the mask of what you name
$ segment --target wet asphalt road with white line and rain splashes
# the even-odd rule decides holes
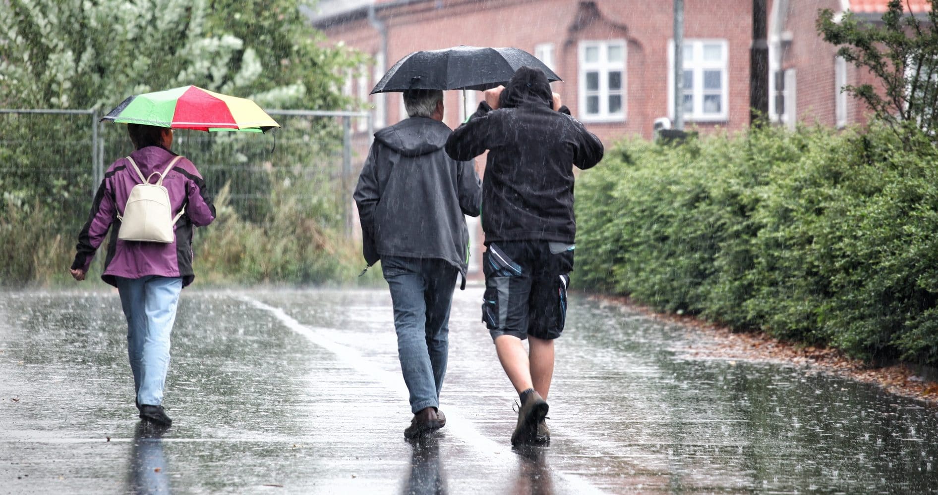
[[[167,431],[136,418],[115,292],[0,298],[0,493],[938,493],[938,412],[840,379],[702,360],[682,328],[574,298],[552,444],[457,291],[441,408],[410,421],[386,290],[183,292]]]

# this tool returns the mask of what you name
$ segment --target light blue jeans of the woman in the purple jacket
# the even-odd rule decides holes
[[[127,354],[133,388],[141,404],[159,405],[170,365],[170,333],[182,291],[179,277],[117,277],[117,292],[127,316]]]

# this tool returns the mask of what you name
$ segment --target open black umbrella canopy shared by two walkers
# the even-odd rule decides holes
[[[398,61],[371,94],[406,90],[480,90],[505,84],[522,66],[539,68],[547,80],[561,80],[537,57],[517,48],[458,46],[414,51]]]

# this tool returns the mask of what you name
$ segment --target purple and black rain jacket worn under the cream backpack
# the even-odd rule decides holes
[[[161,173],[174,156],[159,146],[147,146],[130,153],[144,177],[156,171]],[[151,182],[156,182],[156,177]],[[116,286],[114,277],[137,279],[161,275],[182,277],[183,286],[191,284],[195,278],[192,272],[193,227],[207,226],[215,220],[215,206],[205,194],[202,175],[192,162],[181,158],[163,180],[163,186],[169,191],[173,214],[186,207],[186,213],[175,225],[175,241],[169,244],[117,239],[120,229],[117,214],[124,216],[130,189],[139,183],[140,178],[127,158],[120,158],[108,167],[95,195],[88,222],[78,235],[77,254],[71,268],[87,271],[108,228],[113,226],[101,280]]]

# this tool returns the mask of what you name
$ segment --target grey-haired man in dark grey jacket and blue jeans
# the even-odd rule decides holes
[[[457,275],[465,281],[468,240],[463,214],[478,216],[481,184],[471,161],[443,151],[443,92],[405,92],[410,118],[374,134],[355,200],[365,259],[381,259],[391,290],[398,357],[414,418],[404,437],[442,428],[449,305]]]

